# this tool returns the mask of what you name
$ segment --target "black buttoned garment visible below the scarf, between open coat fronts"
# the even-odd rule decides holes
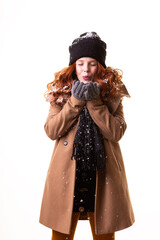
[[[73,212],[94,212],[96,170],[80,170],[77,162]]]

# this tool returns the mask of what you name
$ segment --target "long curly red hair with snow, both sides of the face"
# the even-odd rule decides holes
[[[54,81],[47,84],[48,90],[44,94],[46,101],[60,105],[67,102],[71,96],[73,80],[76,78],[75,68],[76,64],[73,63],[71,66],[55,73]],[[122,70],[112,67],[104,68],[98,62],[94,81],[100,84],[101,97],[104,101],[109,101],[117,95],[130,97],[121,80],[122,75]]]

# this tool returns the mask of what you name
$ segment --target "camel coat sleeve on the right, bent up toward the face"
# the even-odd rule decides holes
[[[107,105],[102,102],[100,97],[96,100],[88,101],[86,106],[104,138],[118,142],[127,128],[123,114],[122,100],[119,101],[114,113],[110,113]]]

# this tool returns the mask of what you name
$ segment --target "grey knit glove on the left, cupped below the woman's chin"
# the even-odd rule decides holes
[[[77,98],[78,100],[85,101],[85,85],[83,82],[74,80],[72,84],[72,95]]]

